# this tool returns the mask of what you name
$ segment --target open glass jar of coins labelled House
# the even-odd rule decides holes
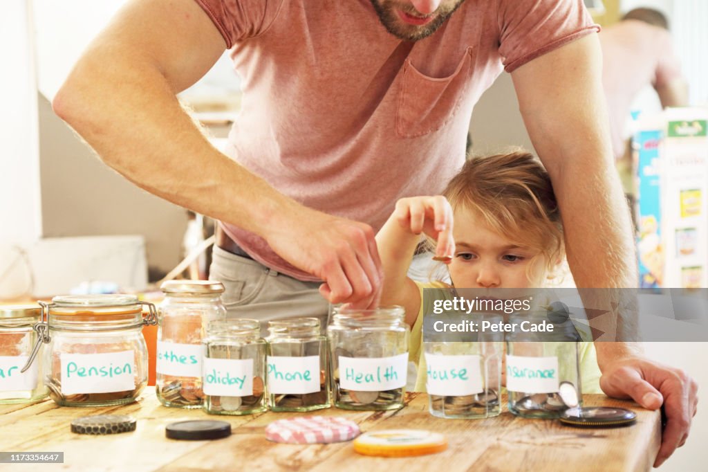
[[[501,326],[503,319],[492,313],[474,313],[464,319],[478,331],[426,334],[423,342],[430,414],[467,419],[497,416],[501,413],[504,334],[480,327],[483,321]]]

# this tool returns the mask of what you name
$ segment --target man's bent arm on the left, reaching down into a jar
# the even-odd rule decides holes
[[[305,208],[218,152],[176,94],[226,45],[194,0],[133,0],[93,40],[55,97],[55,112],[103,161],[166,200],[264,237],[319,276],[332,303],[377,304],[371,227]]]

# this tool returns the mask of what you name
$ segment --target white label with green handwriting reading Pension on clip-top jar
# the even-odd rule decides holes
[[[110,393],[135,390],[135,354],[62,354],[62,393]]]

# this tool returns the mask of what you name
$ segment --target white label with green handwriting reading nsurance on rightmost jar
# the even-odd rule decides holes
[[[506,389],[524,393],[558,391],[558,358],[506,356]]]

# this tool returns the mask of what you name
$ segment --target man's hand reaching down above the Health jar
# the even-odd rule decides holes
[[[324,280],[329,303],[379,305],[383,272],[372,227],[299,207],[282,212],[285,224],[264,232],[268,245],[290,264]]]

